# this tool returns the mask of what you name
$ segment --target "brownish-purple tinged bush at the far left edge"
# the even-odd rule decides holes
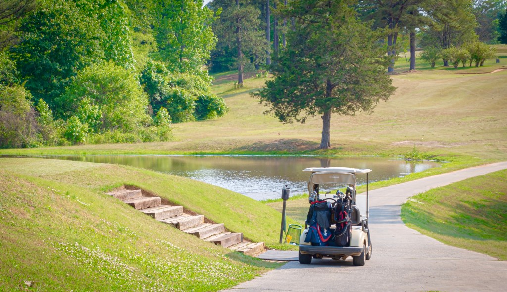
[[[0,85],[0,147],[36,147],[39,139],[31,95],[23,85]]]

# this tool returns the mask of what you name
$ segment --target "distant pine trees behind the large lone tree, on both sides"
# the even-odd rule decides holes
[[[210,70],[237,69],[238,84],[242,84],[244,71],[270,70],[280,50],[287,46],[287,31],[295,28],[295,17],[281,15],[287,2],[290,6],[293,0],[209,3],[211,10],[222,10],[222,17],[212,26],[219,41],[211,51]],[[357,12],[357,19],[382,31],[380,41],[386,53],[393,56],[388,67],[388,72],[392,72],[394,61],[405,46],[411,52],[410,70],[415,70],[417,48],[440,51],[477,41],[507,42],[507,19],[503,20],[506,3],[505,0],[357,0],[348,5]],[[312,4],[313,0],[308,1],[309,6]],[[407,45],[400,43],[400,39],[407,40]],[[449,66],[449,60],[443,61],[444,66]]]

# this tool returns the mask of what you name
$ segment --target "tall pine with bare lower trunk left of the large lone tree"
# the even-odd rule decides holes
[[[243,70],[247,64],[263,63],[269,44],[260,26],[261,11],[248,0],[215,0],[213,8],[222,9],[214,31],[219,38],[218,49],[227,47],[235,52],[238,86],[243,86]]]

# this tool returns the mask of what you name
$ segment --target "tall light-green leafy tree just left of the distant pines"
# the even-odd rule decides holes
[[[211,25],[220,11],[202,7],[196,0],[160,0],[156,10],[159,27],[157,41],[160,57],[169,71],[207,78],[202,67],[216,45]]]

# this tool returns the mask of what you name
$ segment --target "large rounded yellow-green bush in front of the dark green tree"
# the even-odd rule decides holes
[[[146,113],[148,96],[129,71],[113,62],[79,72],[59,103],[66,106],[66,115],[77,113],[82,123],[90,122],[93,133],[132,132],[152,123]]]

